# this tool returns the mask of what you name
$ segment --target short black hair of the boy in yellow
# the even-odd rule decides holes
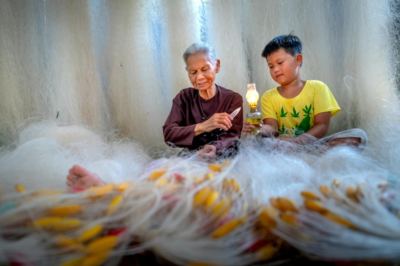
[[[264,48],[262,57],[267,58],[273,52],[276,52],[280,48],[284,48],[288,54],[295,56],[296,54],[301,54],[302,44],[297,36],[289,33],[288,35],[280,35],[273,38]],[[302,64],[302,63],[301,63]]]

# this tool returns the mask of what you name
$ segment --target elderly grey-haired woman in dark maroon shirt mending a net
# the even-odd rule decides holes
[[[221,62],[213,47],[198,42],[183,54],[193,85],[181,90],[172,101],[171,113],[162,127],[164,141],[171,147],[197,151],[208,157],[236,149],[243,126],[243,98],[214,83]],[[241,108],[236,117],[230,114]],[[222,130],[220,130],[222,129]]]

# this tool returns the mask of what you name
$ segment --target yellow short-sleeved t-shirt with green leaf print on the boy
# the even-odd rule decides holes
[[[262,119],[276,119],[279,136],[299,136],[313,128],[315,115],[329,111],[333,117],[340,107],[328,86],[320,81],[307,81],[300,94],[292,99],[282,97],[277,87],[261,97]]]

